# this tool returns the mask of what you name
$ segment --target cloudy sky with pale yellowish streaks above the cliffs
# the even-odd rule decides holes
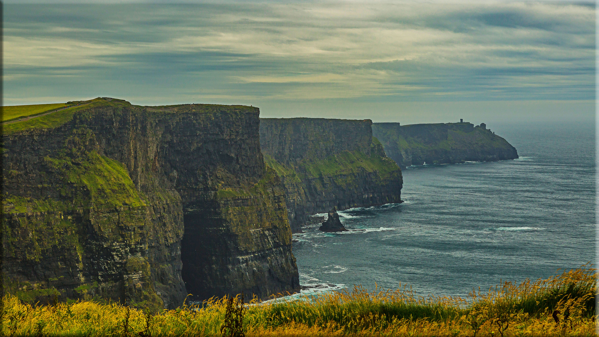
[[[594,2],[19,2],[4,2],[5,106],[115,97],[402,124],[595,119]]]

